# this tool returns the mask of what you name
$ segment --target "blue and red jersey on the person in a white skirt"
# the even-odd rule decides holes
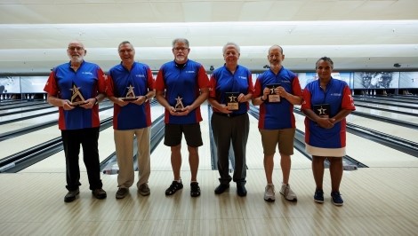
[[[314,105],[329,104],[329,117],[333,118],[341,110],[354,111],[353,98],[349,85],[341,80],[331,78],[326,90],[319,86],[319,80],[308,83],[303,90],[301,109],[313,110]],[[305,142],[309,146],[321,148],[342,148],[346,146],[346,120],[336,122],[331,129],[319,127],[315,122],[305,117]]]

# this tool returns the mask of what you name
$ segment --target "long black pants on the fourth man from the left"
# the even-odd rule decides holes
[[[213,113],[212,119],[213,139],[218,153],[218,171],[221,184],[228,184],[231,180],[238,185],[245,185],[246,160],[245,150],[250,131],[248,114],[226,116]],[[229,176],[229,147],[232,144],[235,158],[234,176]]]

